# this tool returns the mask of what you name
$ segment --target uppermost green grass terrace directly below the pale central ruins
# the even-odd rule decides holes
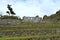
[[[19,23],[15,26],[2,26],[2,27],[60,27],[60,22],[40,22],[40,23]]]

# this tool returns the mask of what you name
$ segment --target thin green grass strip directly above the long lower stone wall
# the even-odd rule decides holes
[[[30,30],[60,30],[60,28],[28,28],[28,29],[16,29],[16,30],[0,30],[0,32],[20,32],[20,31],[30,31]]]

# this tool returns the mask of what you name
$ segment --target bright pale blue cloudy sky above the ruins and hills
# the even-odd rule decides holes
[[[12,5],[17,16],[43,17],[60,10],[60,0],[0,0],[0,14],[8,15],[7,4]]]

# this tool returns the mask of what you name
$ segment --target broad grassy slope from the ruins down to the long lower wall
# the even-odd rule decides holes
[[[0,26],[0,28],[3,29],[0,30],[0,32],[14,32],[21,30],[60,30],[60,22],[20,23],[16,26]]]

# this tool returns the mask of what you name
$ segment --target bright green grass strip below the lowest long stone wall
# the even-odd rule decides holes
[[[16,36],[16,37],[3,37],[0,40],[17,40],[17,39],[28,39],[28,38],[50,38],[50,37],[60,37],[60,34],[47,34],[40,36]]]

